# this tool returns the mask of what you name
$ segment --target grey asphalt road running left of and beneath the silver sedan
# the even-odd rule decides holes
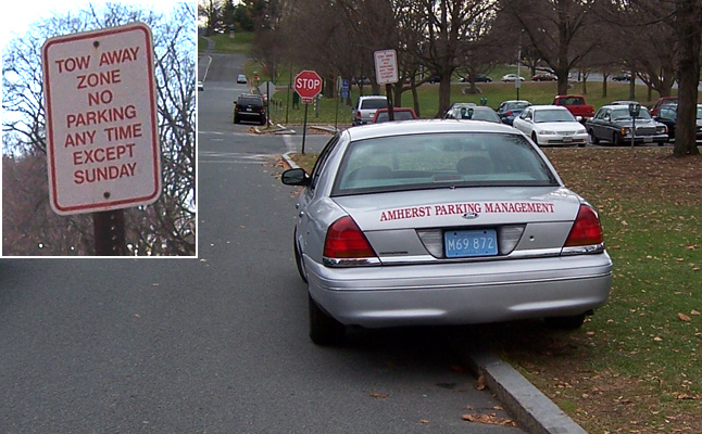
[[[198,258],[0,261],[0,432],[522,432],[462,420],[510,416],[446,330],[311,343],[274,165],[301,137],[231,124],[229,61],[199,92]]]

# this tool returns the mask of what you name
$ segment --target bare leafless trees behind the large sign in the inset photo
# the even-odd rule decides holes
[[[131,255],[193,255],[196,252],[196,18],[190,3],[177,3],[168,15],[117,3],[57,14],[35,23],[10,41],[3,55],[3,254],[86,255],[92,240],[85,216],[47,213],[48,186],[35,177],[46,171],[46,127],[39,60],[43,41],[53,36],[117,26],[148,24],[154,37],[156,105],[162,152],[163,191],[152,205],[125,210]],[[22,170],[33,170],[22,174]],[[34,171],[40,169],[40,171]],[[30,189],[36,201],[13,200],[12,189]],[[41,192],[38,194],[37,192]],[[34,220],[28,225],[26,220]],[[10,242],[10,240],[12,240]],[[79,241],[78,241],[79,240]],[[27,244],[22,245],[25,241]],[[41,248],[38,246],[41,245]]]

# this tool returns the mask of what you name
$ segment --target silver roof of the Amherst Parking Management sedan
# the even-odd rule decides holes
[[[343,130],[349,140],[364,140],[375,137],[404,136],[441,132],[496,132],[521,135],[521,132],[504,124],[482,120],[460,122],[456,119],[416,119],[394,123],[369,124]]]

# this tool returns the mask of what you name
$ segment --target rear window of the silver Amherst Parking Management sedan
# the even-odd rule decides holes
[[[498,186],[559,186],[521,135],[422,133],[349,144],[331,195]]]

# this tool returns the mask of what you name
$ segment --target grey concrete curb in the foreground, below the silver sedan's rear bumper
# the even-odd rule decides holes
[[[464,354],[471,369],[504,404],[525,431],[534,434],[587,434],[541,391],[494,354],[475,349]]]

